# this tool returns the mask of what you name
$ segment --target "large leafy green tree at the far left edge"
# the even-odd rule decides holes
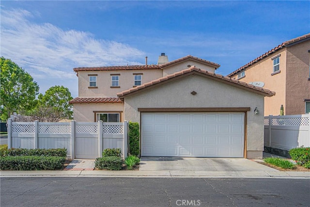
[[[39,86],[31,75],[4,57],[0,59],[0,69],[1,120],[6,120],[15,111],[18,113],[35,108]]]

